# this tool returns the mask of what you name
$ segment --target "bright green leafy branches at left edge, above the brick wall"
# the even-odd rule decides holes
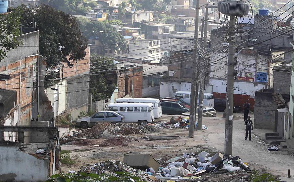
[[[7,57],[7,52],[19,46],[16,36],[20,35],[20,14],[0,14],[0,62]]]

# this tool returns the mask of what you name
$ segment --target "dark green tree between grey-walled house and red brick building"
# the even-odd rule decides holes
[[[93,62],[93,69],[90,75],[90,93],[92,94],[92,101],[98,101],[109,98],[116,84],[107,84],[107,77],[105,73],[113,68],[113,59],[109,57],[99,57],[91,55],[91,62]]]

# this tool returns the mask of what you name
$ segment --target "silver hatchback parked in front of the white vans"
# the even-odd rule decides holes
[[[125,121],[125,116],[122,116],[114,111],[99,111],[89,117],[81,117],[77,119],[76,125],[81,128],[94,126],[97,122],[121,123]]]

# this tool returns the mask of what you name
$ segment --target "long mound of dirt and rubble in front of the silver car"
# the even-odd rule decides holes
[[[76,129],[73,138],[97,139],[112,138],[115,136],[125,136],[130,134],[146,134],[155,132],[155,126],[139,125],[136,123],[108,123],[98,122],[92,128],[87,130]]]

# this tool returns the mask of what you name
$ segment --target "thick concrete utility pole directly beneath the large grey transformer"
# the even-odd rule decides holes
[[[234,64],[235,64],[235,45],[234,45],[234,30],[235,16],[230,16],[229,22],[229,57],[228,57],[228,73],[227,73],[227,94],[226,94],[226,128],[225,128],[225,153],[232,154],[233,140],[233,97],[234,97]]]

